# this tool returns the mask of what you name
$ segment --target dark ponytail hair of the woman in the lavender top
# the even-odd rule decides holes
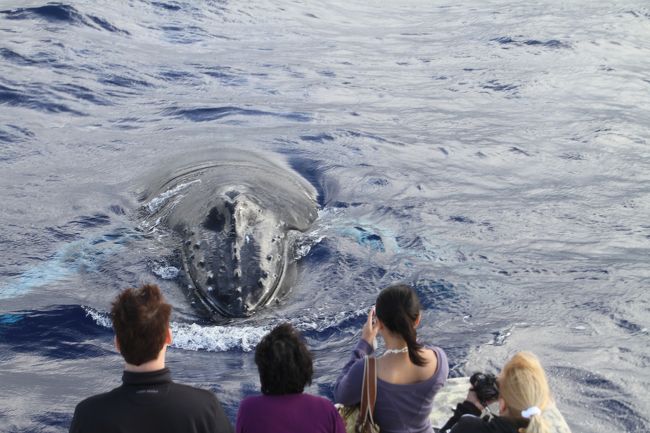
[[[390,333],[404,339],[411,362],[415,365],[424,365],[426,361],[420,355],[422,345],[417,342],[415,332],[415,328],[420,323],[420,300],[415,290],[406,284],[386,287],[377,297],[375,313],[377,319]]]

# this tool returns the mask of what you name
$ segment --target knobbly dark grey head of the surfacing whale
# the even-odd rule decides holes
[[[287,266],[284,230],[240,194],[217,200],[201,225],[184,229],[183,266],[208,309],[245,317],[273,299]]]

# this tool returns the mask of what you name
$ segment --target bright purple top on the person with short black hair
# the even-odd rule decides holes
[[[245,398],[237,412],[237,433],[345,433],[338,411],[327,399],[310,394]]]

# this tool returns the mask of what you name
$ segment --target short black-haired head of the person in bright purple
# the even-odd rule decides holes
[[[276,326],[255,348],[265,395],[298,394],[311,384],[312,356],[289,323]]]

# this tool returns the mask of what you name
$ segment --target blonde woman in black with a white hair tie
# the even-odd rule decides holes
[[[451,433],[549,433],[542,416],[551,403],[546,374],[530,352],[519,352],[503,367],[497,378],[499,416],[480,418],[483,405],[470,389],[442,432]],[[451,427],[451,430],[446,430]]]

